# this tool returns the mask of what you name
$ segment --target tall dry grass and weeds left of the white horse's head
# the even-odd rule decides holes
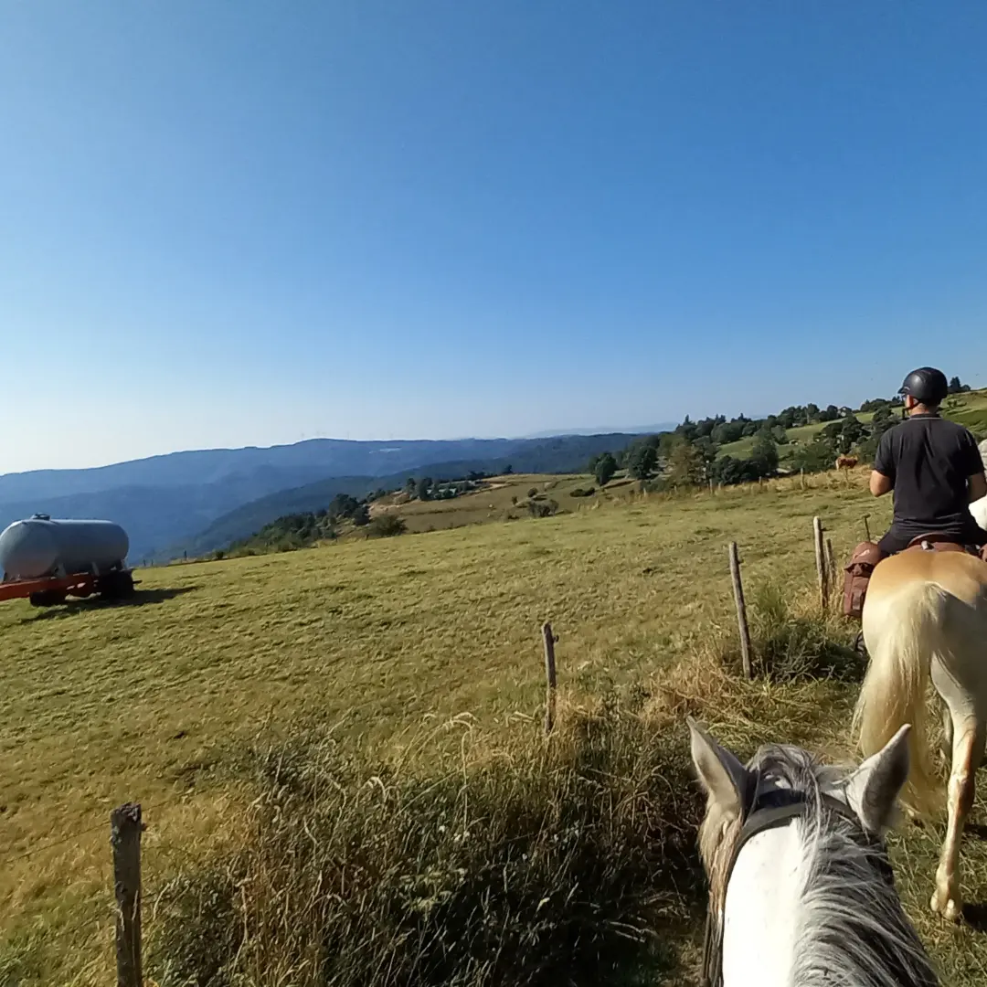
[[[619,703],[549,740],[457,719],[383,765],[313,736],[248,763],[240,849],[155,903],[160,987],[660,983],[702,913],[685,730]]]

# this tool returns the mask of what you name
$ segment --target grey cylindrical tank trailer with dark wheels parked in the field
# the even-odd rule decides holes
[[[0,571],[4,584],[38,584],[30,594],[36,606],[63,603],[66,592],[119,597],[133,590],[126,568],[129,549],[126,532],[113,521],[52,520],[35,514],[0,533]],[[63,589],[61,584],[73,576],[87,577],[73,583],[83,592]],[[51,588],[42,585],[47,580]]]

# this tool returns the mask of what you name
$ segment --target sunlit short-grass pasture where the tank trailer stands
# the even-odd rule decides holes
[[[567,500],[584,478],[541,482],[573,512],[438,530],[440,505],[419,504],[410,524],[436,530],[143,570],[125,606],[0,608],[0,984],[109,981],[115,804],[145,806],[153,901],[190,848],[232,838],[244,806],[229,779],[254,738],[332,726],[342,744],[386,757],[430,715],[462,713],[496,736],[539,713],[547,619],[573,701],[658,681],[732,633],[728,541],[751,595],[769,580],[791,595],[811,584],[814,514],[844,557],[864,513],[877,532],[890,509],[865,493],[863,474],[849,489],[822,475],[807,490],[788,479],[678,499],[628,487]],[[510,490],[468,509],[488,521],[485,511],[508,510]],[[786,688],[745,694],[729,714],[741,735],[809,735],[839,751],[852,688],[800,686],[815,704],[804,722],[786,712]],[[727,716],[696,702],[714,727]],[[772,711],[780,719],[760,719]],[[947,982],[983,983],[987,940],[928,914],[938,836],[894,839],[899,886]],[[964,865],[967,897],[981,902],[987,846],[968,838]],[[153,916],[146,926],[153,941]],[[686,934],[693,947],[697,936]]]

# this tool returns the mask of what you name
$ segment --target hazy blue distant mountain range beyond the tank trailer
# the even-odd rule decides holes
[[[318,509],[336,493],[369,493],[429,473],[470,470],[570,473],[616,451],[637,432],[518,439],[359,442],[310,439],[268,448],[203,449],[91,470],[0,476],[0,529],[36,512],[107,518],[130,537],[130,562],[198,555],[246,537],[295,510]]]

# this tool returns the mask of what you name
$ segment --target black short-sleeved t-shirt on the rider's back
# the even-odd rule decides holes
[[[902,533],[967,530],[967,480],[983,469],[969,430],[938,415],[912,415],[881,436],[873,468],[894,485],[894,526]]]

